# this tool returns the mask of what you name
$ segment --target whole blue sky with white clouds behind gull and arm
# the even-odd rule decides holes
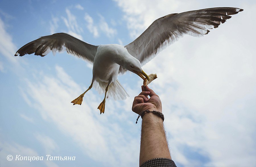
[[[139,166],[141,120],[131,111],[142,80],[118,79],[129,98],[88,91],[92,65],[67,53],[16,51],[40,36],[65,32],[93,45],[126,45],[157,18],[210,7],[244,9],[204,37],[184,36],[143,66],[162,101],[177,166],[256,165],[255,1],[0,1],[0,166]],[[44,156],[8,161],[7,156]],[[73,161],[46,155],[75,156]]]

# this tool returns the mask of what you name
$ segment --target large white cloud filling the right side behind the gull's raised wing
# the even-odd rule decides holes
[[[199,1],[198,7],[194,1],[117,0],[117,3],[125,12],[133,39],[160,16],[205,8]],[[143,66],[144,71],[158,74],[149,86],[163,103],[172,157],[184,166],[255,163],[256,117],[252,99],[256,96],[253,65],[256,59],[252,53],[256,36],[243,32],[255,27],[250,19],[255,15],[256,5],[234,2],[228,6],[245,11],[203,38],[185,36]],[[197,150],[208,157],[207,162],[191,160],[181,147]]]

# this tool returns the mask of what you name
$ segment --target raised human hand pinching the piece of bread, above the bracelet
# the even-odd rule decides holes
[[[142,92],[134,98],[133,112],[140,114],[144,110],[162,112],[162,103],[159,96],[148,86],[141,86]],[[150,99],[148,99],[148,95]]]

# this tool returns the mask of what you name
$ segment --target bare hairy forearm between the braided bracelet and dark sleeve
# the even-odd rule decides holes
[[[156,114],[145,113],[141,128],[140,162],[153,158],[170,158],[163,120]]]

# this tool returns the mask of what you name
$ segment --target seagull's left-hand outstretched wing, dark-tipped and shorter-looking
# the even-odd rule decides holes
[[[85,43],[69,34],[56,33],[27,43],[16,52],[15,56],[35,53],[43,57],[50,51],[55,54],[56,51],[61,52],[65,49],[67,53],[93,63],[97,48],[98,46]]]

